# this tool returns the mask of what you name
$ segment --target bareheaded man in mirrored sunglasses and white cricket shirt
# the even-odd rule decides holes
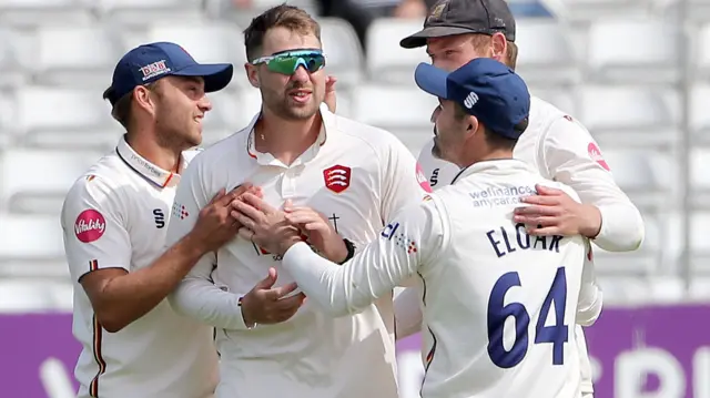
[[[306,12],[274,7],[252,21],[244,38],[245,71],[261,92],[262,110],[195,159],[175,205],[192,215],[213,192],[252,183],[265,204],[280,208],[260,218],[258,227],[283,225],[285,212],[292,213],[304,241],[343,263],[376,238],[385,220],[423,197],[428,184],[393,134],[323,104],[326,57],[320,27]],[[310,225],[322,220],[346,239],[326,246],[312,238]],[[168,244],[194,222],[173,217]],[[281,257],[252,242],[247,229],[203,257],[175,289],[175,309],[217,328],[216,396],[397,397],[392,294],[362,314],[333,319],[304,304],[296,289]]]

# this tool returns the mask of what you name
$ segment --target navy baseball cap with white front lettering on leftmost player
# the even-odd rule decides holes
[[[103,92],[103,99],[115,105],[136,86],[171,75],[199,76],[204,79],[205,92],[220,91],[230,84],[233,73],[231,63],[197,63],[175,43],[149,43],[136,47],[121,58],[113,71],[111,86]]]

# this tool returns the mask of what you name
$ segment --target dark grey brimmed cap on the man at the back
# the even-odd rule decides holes
[[[500,32],[515,41],[515,18],[506,0],[439,0],[429,9],[424,29],[399,41],[405,49],[426,45],[426,39],[464,33]]]

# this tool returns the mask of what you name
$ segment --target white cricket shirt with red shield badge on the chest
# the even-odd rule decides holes
[[[417,181],[416,161],[390,133],[321,108],[324,129],[293,164],[254,149],[251,124],[200,154],[183,175],[175,205],[190,216],[173,218],[168,244],[194,225],[197,211],[220,190],[251,182],[264,200],[286,198],[331,220],[355,245],[374,239],[384,221],[428,190]],[[216,267],[213,264],[216,263]],[[293,282],[281,259],[235,238],[205,256],[171,296],[185,315],[219,328],[219,398],[308,397],[394,398],[397,396],[392,294],[355,316],[333,319],[306,304],[291,319],[247,329],[239,298],[262,280],[268,267],[276,286]]]

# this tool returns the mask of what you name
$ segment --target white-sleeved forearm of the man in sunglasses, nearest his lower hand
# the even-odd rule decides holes
[[[175,312],[222,329],[246,329],[240,295],[224,292],[212,282],[187,276],[169,296]]]

